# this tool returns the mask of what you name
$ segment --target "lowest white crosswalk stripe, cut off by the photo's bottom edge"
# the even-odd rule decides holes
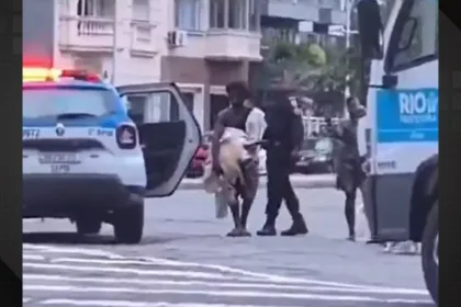
[[[207,303],[178,303],[171,304],[166,302],[133,302],[133,300],[89,300],[89,299],[65,299],[54,298],[38,303],[40,305],[59,305],[59,306],[101,306],[101,307],[277,307],[268,305],[228,305],[228,304],[207,304]],[[302,306],[290,306],[302,307]]]

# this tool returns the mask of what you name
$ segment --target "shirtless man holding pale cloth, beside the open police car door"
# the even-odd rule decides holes
[[[214,125],[214,134],[212,140],[212,167],[213,171],[217,174],[222,173],[220,164],[220,148],[221,138],[225,132],[225,128],[232,127],[247,132],[247,120],[252,111],[252,107],[245,105],[245,101],[250,99],[250,91],[245,82],[236,81],[231,82],[226,86],[227,96],[231,102],[231,106],[221,111],[217,115],[216,123]],[[228,237],[247,237],[250,232],[247,230],[248,215],[251,209],[252,202],[255,201],[256,193],[259,184],[258,164],[255,159],[247,159],[241,162],[241,171],[245,178],[245,183],[237,183],[235,186],[237,191],[237,197],[243,198],[241,203],[241,215],[240,205],[229,204],[232,217],[234,219],[234,229],[227,234]]]

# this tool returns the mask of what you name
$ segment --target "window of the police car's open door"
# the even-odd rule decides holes
[[[130,117],[136,124],[162,123],[179,120],[179,105],[170,92],[126,96]]]

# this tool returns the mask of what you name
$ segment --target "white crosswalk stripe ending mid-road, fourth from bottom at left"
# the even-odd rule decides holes
[[[255,278],[248,277],[240,277],[240,276],[224,276],[221,274],[214,273],[203,273],[203,272],[194,272],[194,271],[187,271],[187,270],[137,270],[137,269],[120,269],[120,268],[101,268],[101,266],[74,266],[74,265],[65,265],[65,264],[48,264],[48,263],[32,263],[32,262],[24,262],[22,264],[23,268],[32,268],[32,269],[45,269],[45,270],[64,270],[64,271],[79,271],[79,272],[105,272],[105,273],[125,273],[125,274],[135,274],[135,275],[144,275],[144,276],[178,276],[178,277],[191,277],[191,278],[202,278],[202,280],[222,280],[222,281],[260,281]]]

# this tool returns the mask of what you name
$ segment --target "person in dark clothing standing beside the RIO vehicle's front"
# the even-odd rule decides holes
[[[367,115],[366,109],[355,98],[348,98],[349,120],[337,127],[330,127],[329,134],[340,143],[337,158],[336,187],[346,194],[345,216],[348,226],[348,240],[356,240],[356,197],[357,191],[366,179],[362,158],[359,154],[357,129],[359,120]]]

